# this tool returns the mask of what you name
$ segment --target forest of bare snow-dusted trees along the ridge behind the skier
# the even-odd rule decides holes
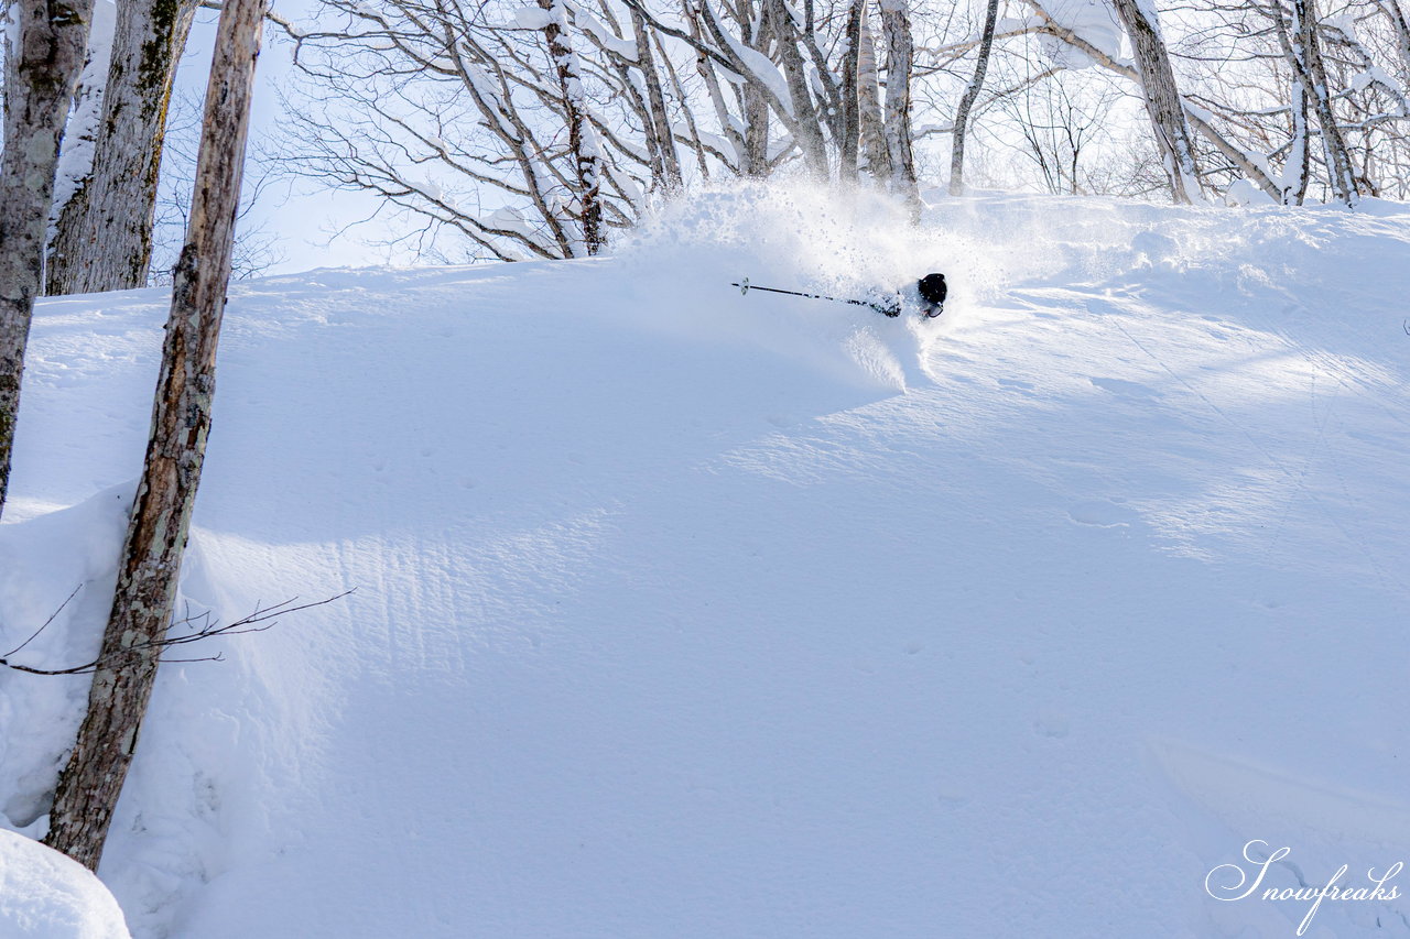
[[[323,0],[313,23],[282,171],[461,257],[592,254],[729,178],[1404,196],[1397,0]]]

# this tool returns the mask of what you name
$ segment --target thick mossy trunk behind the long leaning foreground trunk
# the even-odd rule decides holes
[[[157,176],[193,0],[120,0],[93,169],[59,213],[49,293],[147,285]]]

